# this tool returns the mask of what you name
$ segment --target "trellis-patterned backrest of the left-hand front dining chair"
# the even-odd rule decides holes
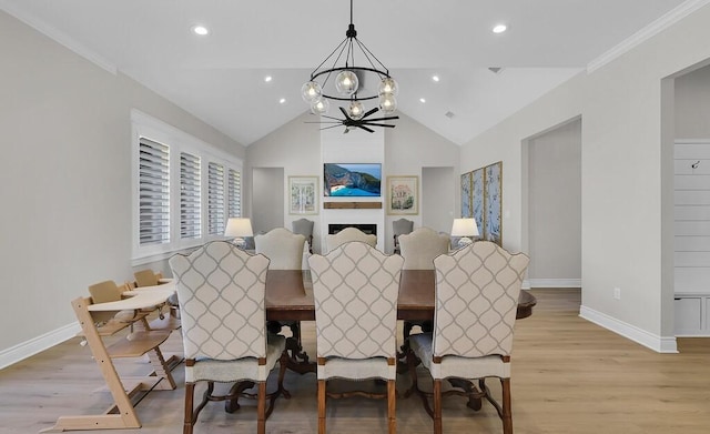
[[[170,266],[182,311],[185,359],[266,356],[267,258],[214,241],[190,255],[172,256]]]

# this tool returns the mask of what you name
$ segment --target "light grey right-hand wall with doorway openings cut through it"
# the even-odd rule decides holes
[[[521,141],[566,119],[582,128],[582,314],[657,351],[674,337],[661,316],[661,81],[710,58],[710,6],[591,73],[554,89],[462,149],[464,171],[504,161],[504,242],[521,245]],[[562,212],[564,210],[560,210]],[[505,211],[504,211],[505,212]],[[672,272],[672,271],[671,271]],[[621,290],[620,300],[613,289]],[[672,322],[670,322],[672,323]]]

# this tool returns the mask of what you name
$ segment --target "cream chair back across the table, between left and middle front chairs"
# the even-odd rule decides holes
[[[256,253],[271,260],[272,270],[301,270],[306,238],[285,228],[254,236]]]

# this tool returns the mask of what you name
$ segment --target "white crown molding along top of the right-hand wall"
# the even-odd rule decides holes
[[[656,34],[668,29],[669,27],[673,26],[674,23],[682,20],[683,18],[690,16],[698,9],[707,6],[708,3],[710,3],[710,0],[684,1],[683,3],[672,9],[671,11],[667,12],[665,16],[658,18],[656,21],[651,22],[650,24],[646,26],[641,30],[631,34],[629,38],[627,38],[621,43],[613,47],[611,50],[605,52],[597,59],[589,62],[587,64],[587,73],[591,73],[598,70],[599,68],[604,67],[605,64],[621,57],[626,52],[646,42],[647,40],[651,39]]]

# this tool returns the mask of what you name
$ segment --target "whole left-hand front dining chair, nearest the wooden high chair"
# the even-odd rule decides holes
[[[225,241],[207,243],[190,255],[170,259],[180,309],[185,352],[185,415],[183,433],[192,433],[207,401],[232,402],[253,383],[257,386],[257,433],[264,434],[265,421],[283,387],[286,370],[285,340],[267,334],[265,286],[268,259],[252,255]],[[268,373],[281,362],[278,388],[266,394]],[[193,405],[195,383],[207,382],[200,405]],[[214,383],[237,382],[229,394],[215,395]],[[244,385],[244,382],[246,385]],[[266,408],[266,398],[270,398]]]

